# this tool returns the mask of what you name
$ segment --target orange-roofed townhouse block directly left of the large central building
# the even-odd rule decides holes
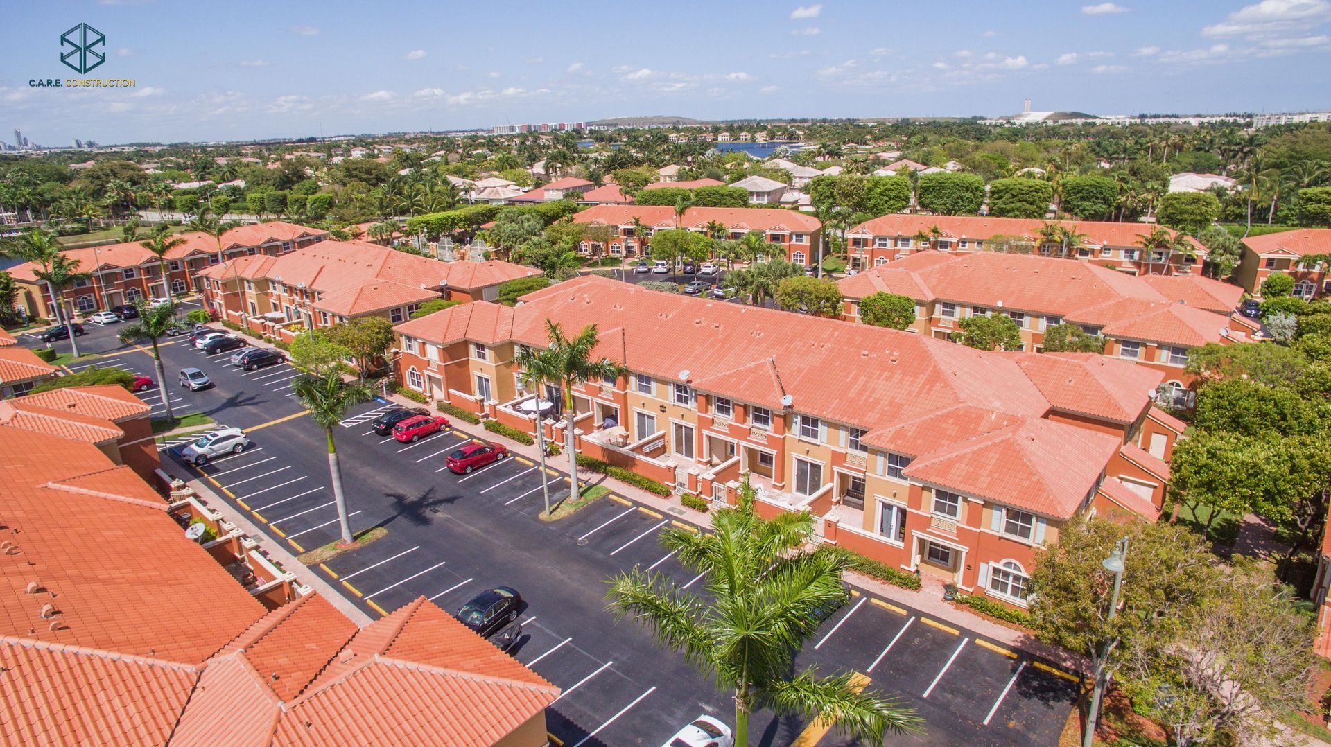
[[[401,322],[435,298],[492,301],[504,282],[539,274],[498,260],[442,262],[363,241],[321,241],[278,257],[237,257],[198,278],[218,318],[289,341],[355,317]]]

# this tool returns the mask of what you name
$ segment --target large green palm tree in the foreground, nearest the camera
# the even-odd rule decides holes
[[[855,672],[795,674],[795,656],[817,631],[825,611],[847,598],[844,554],[811,551],[808,511],[764,521],[753,510],[745,478],[739,503],[713,513],[713,533],[668,529],[662,545],[707,578],[707,595],[680,589],[666,574],[631,571],[610,579],[606,598],[619,618],[646,626],[656,640],[735,692],[735,744],[748,744],[749,714],[815,715],[844,736],[881,744],[885,732],[909,734],[921,719],[910,708],[860,690]]]

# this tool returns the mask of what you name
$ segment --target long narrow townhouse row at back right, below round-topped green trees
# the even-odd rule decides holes
[[[1083,236],[1074,246],[1044,241],[1046,226]],[[1138,245],[1155,226],[1110,221],[1042,221],[988,216],[922,216],[892,213],[864,221],[847,232],[847,262],[864,270],[898,257],[938,252],[993,252],[997,246],[1025,249],[1044,257],[1073,257],[1130,274],[1187,274],[1198,272],[1206,248],[1186,238],[1191,253],[1147,250]],[[1165,229],[1177,236],[1173,229]]]

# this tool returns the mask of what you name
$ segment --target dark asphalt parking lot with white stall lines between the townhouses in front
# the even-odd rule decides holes
[[[113,326],[91,329],[80,344],[105,348],[106,364],[150,373],[150,358],[120,346]],[[241,372],[228,364],[229,353],[210,357],[182,342],[164,346],[162,356],[172,381],[180,368],[198,366],[217,383],[202,391],[169,389],[180,398],[173,405],[244,427],[253,441],[244,453],[198,469],[174,461],[169,449],[180,443],[168,445],[164,462],[181,474],[205,475],[217,493],[297,553],[334,541],[338,523],[323,434],[290,395],[295,372],[285,364]],[[144,394],[149,403],[153,397],[160,406],[158,390]],[[395,406],[365,403],[335,434],[353,530],[382,526],[387,537],[334,558],[318,573],[371,617],[419,597],[454,611],[494,586],[518,589],[524,607],[515,655],[563,690],[547,720],[564,746],[662,744],[704,712],[733,722],[725,694],[680,655],[658,648],[643,628],[616,623],[604,611],[604,579],[634,566],[703,591],[704,579],[660,546],[659,534],[679,525],[673,514],[611,493],[567,519],[542,522],[542,483],[552,497],[568,490],[556,469],[563,459],[542,470],[514,455],[458,475],[445,465],[449,451],[483,439],[457,429],[415,443],[374,434],[370,421]],[[1057,742],[1075,690],[1066,675],[970,631],[856,594],[820,627],[800,655],[801,667],[862,672],[872,679],[869,687],[918,708],[926,731],[908,742]],[[767,712],[751,722],[752,732],[769,744],[789,743],[807,726]],[[845,742],[828,734],[819,743]]]

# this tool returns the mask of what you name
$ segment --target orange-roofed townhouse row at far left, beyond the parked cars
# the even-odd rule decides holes
[[[64,290],[65,312],[91,314],[140,298],[181,294],[194,290],[196,276],[205,268],[245,256],[281,256],[310,246],[327,236],[317,228],[273,221],[236,226],[217,238],[205,233],[181,233],[184,244],[166,253],[166,276],[162,277],[157,257],[142,242],[108,244],[68,249],[65,256],[79,261],[79,272],[91,277],[75,281]],[[19,286],[16,304],[29,317],[53,316],[55,304],[47,285],[36,278],[32,262],[9,270]]]

